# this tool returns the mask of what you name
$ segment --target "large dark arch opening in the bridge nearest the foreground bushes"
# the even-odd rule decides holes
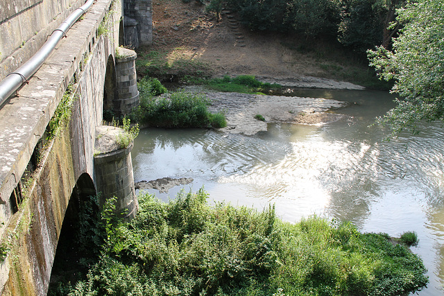
[[[91,218],[89,216],[96,216],[99,213],[99,207],[94,202],[95,196],[94,182],[87,173],[83,173],[74,186],[65,212],[51,270],[48,295],[60,293],[59,283],[76,283],[84,276],[85,266],[81,263],[81,259],[88,254],[85,254],[87,246],[81,237],[85,234],[80,233],[84,230],[80,228],[89,223]]]

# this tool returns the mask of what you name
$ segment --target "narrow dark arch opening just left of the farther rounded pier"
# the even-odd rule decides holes
[[[114,67],[114,59],[112,55],[108,57],[106,63],[105,83],[103,85],[103,120],[112,121],[113,117],[116,117],[114,112],[114,103],[118,98],[117,94],[117,82],[116,82],[116,70]]]

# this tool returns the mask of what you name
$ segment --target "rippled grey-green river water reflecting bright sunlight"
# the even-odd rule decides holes
[[[369,127],[393,107],[378,91],[300,90],[298,96],[350,102],[344,119],[325,125],[268,124],[255,136],[211,130],[141,130],[133,148],[135,181],[192,177],[180,189],[201,186],[212,200],[263,209],[275,204],[280,218],[312,214],[351,221],[361,232],[400,236],[414,231],[412,251],[428,269],[419,295],[441,295],[444,284],[444,128],[420,125],[420,134],[384,141],[387,131]]]

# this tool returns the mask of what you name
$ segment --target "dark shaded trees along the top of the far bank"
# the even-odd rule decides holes
[[[381,44],[391,2],[398,0],[228,0],[227,6],[253,30],[328,35],[365,51]]]

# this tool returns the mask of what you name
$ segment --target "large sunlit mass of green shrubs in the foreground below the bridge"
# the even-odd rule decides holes
[[[102,214],[105,242],[70,295],[407,295],[427,284],[422,261],[385,234],[311,217],[284,223],[180,193],[139,196],[139,214]]]

